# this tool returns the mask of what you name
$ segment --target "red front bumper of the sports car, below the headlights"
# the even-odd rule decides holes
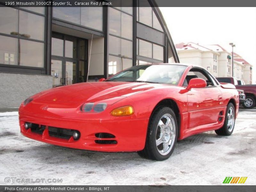
[[[41,142],[93,151],[104,152],[131,152],[142,150],[145,146],[148,119],[129,119],[120,121],[101,121],[101,120],[77,120],[36,116],[19,112],[20,131],[31,139]],[[25,122],[44,125],[44,131],[40,133],[32,132],[29,128],[25,129]],[[78,140],[63,139],[49,135],[48,127],[62,129],[72,129],[80,132]],[[115,138],[98,138],[97,133],[110,133]],[[116,140],[116,144],[99,144],[96,140]]]

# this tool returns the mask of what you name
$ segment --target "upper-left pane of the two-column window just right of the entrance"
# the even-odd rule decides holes
[[[112,7],[109,8],[109,33],[121,36],[121,12]]]

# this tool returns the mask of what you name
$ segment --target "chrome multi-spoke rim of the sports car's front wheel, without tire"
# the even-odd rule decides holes
[[[170,114],[164,114],[156,128],[156,148],[161,155],[167,155],[172,150],[175,136],[174,118]]]

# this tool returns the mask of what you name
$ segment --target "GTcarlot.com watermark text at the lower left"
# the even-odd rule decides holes
[[[17,177],[5,177],[5,183],[62,183],[62,179],[29,179]]]

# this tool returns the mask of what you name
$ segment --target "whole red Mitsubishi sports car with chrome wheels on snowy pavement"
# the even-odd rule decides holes
[[[177,140],[212,131],[231,135],[239,96],[204,68],[148,64],[101,82],[56,87],[20,106],[21,133],[69,148],[164,160]]]

